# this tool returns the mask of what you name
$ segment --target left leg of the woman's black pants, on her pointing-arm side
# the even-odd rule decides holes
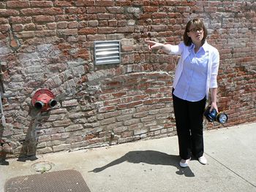
[[[187,101],[173,95],[173,108],[178,134],[178,148],[181,158],[187,160],[191,156],[191,136],[189,128],[189,109]]]

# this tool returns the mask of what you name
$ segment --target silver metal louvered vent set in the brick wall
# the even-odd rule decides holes
[[[94,56],[97,65],[120,63],[120,42],[94,42]]]

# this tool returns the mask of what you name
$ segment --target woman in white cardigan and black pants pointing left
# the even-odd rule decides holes
[[[189,20],[184,41],[168,45],[146,41],[149,50],[181,55],[173,80],[173,107],[178,134],[180,166],[187,167],[192,155],[206,164],[203,155],[203,112],[211,92],[211,110],[217,108],[219,52],[206,42],[207,29],[200,19]],[[210,112],[211,112],[210,110]]]

